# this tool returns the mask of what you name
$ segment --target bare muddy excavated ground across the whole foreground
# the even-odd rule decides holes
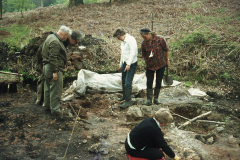
[[[17,93],[14,85],[10,87],[9,93],[0,95],[1,160],[55,160],[63,157],[80,160],[126,160],[123,143],[127,133],[140,120],[151,116],[149,109],[156,111],[161,107],[168,107],[173,113],[190,119],[212,111],[201,119],[226,123],[222,125],[193,122],[178,130],[177,127],[186,120],[174,115],[174,122],[165,128],[165,136],[168,137],[166,139],[169,145],[182,159],[233,160],[240,157],[238,100],[219,99],[217,94],[204,98],[193,97],[187,92],[189,88],[180,84],[162,89],[161,105],[142,106],[146,94],[141,92],[136,95],[132,107],[141,108],[142,117],[130,115],[129,109],[120,109],[120,103],[116,99],[121,94],[114,93],[86,94],[85,97],[63,102],[62,107],[69,114],[67,118],[59,119],[43,111],[41,105],[35,104],[35,86],[24,86],[23,93]],[[65,89],[67,88],[66,85]],[[81,120],[74,118],[70,104],[77,113],[80,111]],[[80,110],[79,106],[82,106]],[[188,137],[189,133],[194,136]],[[185,137],[181,139],[183,135]],[[183,142],[184,140],[186,142]],[[89,151],[89,147],[94,144],[98,144],[95,149],[97,153]],[[196,149],[198,145],[201,145],[201,149]],[[207,151],[203,152],[204,148]]]

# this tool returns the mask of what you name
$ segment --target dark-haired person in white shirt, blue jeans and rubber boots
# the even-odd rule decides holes
[[[132,81],[137,68],[137,41],[122,28],[117,29],[113,37],[122,41],[119,70],[122,72],[123,97],[120,98],[119,101],[125,100],[120,107],[127,108],[131,105]]]

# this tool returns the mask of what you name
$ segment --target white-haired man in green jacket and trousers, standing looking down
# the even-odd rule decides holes
[[[69,27],[61,26],[57,34],[47,37],[42,48],[44,82],[44,110],[62,117],[60,101],[63,89],[63,70],[67,52],[63,42],[72,34]]]

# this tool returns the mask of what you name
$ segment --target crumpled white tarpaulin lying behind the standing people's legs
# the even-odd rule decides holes
[[[85,69],[81,69],[78,73],[78,79],[73,81],[73,84],[69,89],[65,91],[62,96],[62,100],[71,100],[75,97],[82,96],[88,92],[120,92],[122,91],[122,73],[114,73],[114,74],[98,74],[92,71],[88,71]],[[140,90],[146,89],[146,75],[135,74],[133,79],[133,88],[132,92],[139,92]],[[171,86],[176,86],[181,82],[173,81]],[[154,83],[155,85],[155,79]],[[155,87],[153,85],[153,87]],[[162,83],[162,87],[165,85]]]

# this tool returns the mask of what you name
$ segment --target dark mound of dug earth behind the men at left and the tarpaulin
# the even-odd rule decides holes
[[[47,36],[53,32],[44,32],[41,36],[30,40],[20,52],[20,70],[25,79],[36,80],[40,76],[41,71],[38,67],[38,59],[36,53]],[[79,46],[85,46],[80,49]],[[86,35],[79,45],[67,47],[67,68],[64,77],[76,77],[81,69],[88,69],[98,73],[116,72],[119,56],[113,56],[110,53],[111,46],[101,38]],[[16,50],[11,49],[7,44],[0,43],[0,70],[8,70],[17,72]],[[117,64],[117,65],[116,65]]]

